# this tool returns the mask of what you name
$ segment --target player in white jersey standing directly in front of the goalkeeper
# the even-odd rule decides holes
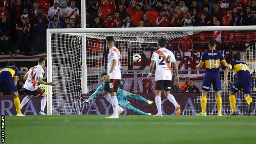
[[[120,64],[120,55],[119,50],[114,46],[114,38],[112,36],[108,36],[106,38],[107,47],[109,49],[108,57],[107,57],[107,77],[105,80],[104,90],[102,92],[103,96],[106,96],[110,92],[111,96],[111,104],[113,107],[113,114],[110,117],[106,117],[109,119],[117,119],[118,113],[118,101],[117,101],[117,89],[119,87],[121,81],[121,64]]]

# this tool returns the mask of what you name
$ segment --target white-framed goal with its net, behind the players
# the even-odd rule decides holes
[[[195,31],[196,30],[196,31]],[[232,31],[231,31],[232,30]],[[110,103],[97,95],[90,105],[82,104],[101,85],[101,73],[107,72],[105,38],[113,36],[115,45],[121,52],[121,89],[144,96],[154,101],[154,78],[147,79],[152,53],[158,48],[160,38],[167,40],[167,49],[176,58],[180,82],[173,84],[171,93],[181,105],[183,115],[201,112],[201,87],[204,71],[197,71],[202,53],[208,49],[208,40],[217,41],[227,62],[232,61],[233,53],[240,53],[253,78],[252,98],[256,101],[256,28],[246,27],[160,27],[128,29],[48,29],[47,36],[47,78],[57,84],[48,87],[48,114],[111,114]],[[141,62],[133,62],[133,55],[142,56]],[[228,76],[231,84],[235,75]],[[153,72],[154,74],[154,72]],[[224,67],[221,66],[223,85]],[[154,77],[154,75],[153,75]],[[184,90],[183,82],[193,80],[199,91]],[[230,87],[230,86],[229,86]],[[231,113],[229,87],[222,86],[222,112]],[[191,87],[189,87],[191,88]],[[236,94],[236,107],[239,115],[247,114],[247,103],[242,91]],[[213,89],[207,97],[207,114],[216,115],[217,105]],[[145,112],[156,113],[155,105],[131,100],[132,105]],[[125,107],[124,107],[125,108]],[[162,112],[175,114],[174,106],[162,96]],[[125,114],[133,114],[125,109]],[[255,115],[255,108],[251,115]]]

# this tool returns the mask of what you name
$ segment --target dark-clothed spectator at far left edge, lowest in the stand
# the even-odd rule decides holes
[[[0,53],[1,55],[11,54],[11,42],[5,33],[2,34],[0,39]]]

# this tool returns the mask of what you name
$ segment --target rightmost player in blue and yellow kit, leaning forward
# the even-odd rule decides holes
[[[236,74],[235,81],[229,91],[229,103],[232,109],[231,115],[237,115],[235,110],[235,93],[238,92],[240,89],[242,89],[245,94],[245,100],[249,105],[248,113],[251,114],[253,104],[251,98],[252,78],[250,69],[245,62],[240,61],[239,53],[233,55],[233,62],[231,62],[229,66],[231,69],[233,69],[234,73]],[[229,74],[229,70],[230,69],[226,69],[224,73],[224,87],[227,86],[227,77]]]

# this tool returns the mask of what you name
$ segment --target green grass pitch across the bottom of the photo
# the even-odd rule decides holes
[[[5,117],[6,144],[256,144],[256,117]]]

